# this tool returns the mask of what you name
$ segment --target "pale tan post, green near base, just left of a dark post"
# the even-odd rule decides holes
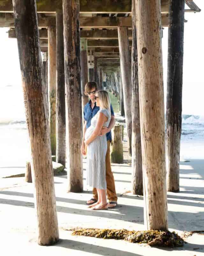
[[[56,27],[48,27],[48,102],[52,155],[56,154]]]

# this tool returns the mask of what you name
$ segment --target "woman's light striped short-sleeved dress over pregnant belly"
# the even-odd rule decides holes
[[[96,127],[98,114],[102,112],[108,120],[103,126],[108,127],[111,115],[108,109],[100,109],[91,119],[91,126],[86,130],[85,140],[87,140]],[[106,152],[107,138],[106,134],[98,136],[87,146],[87,185],[93,188],[106,189]]]

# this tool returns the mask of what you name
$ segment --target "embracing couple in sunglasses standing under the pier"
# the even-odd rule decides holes
[[[87,156],[87,185],[93,187],[93,197],[86,204],[91,210],[106,210],[117,205],[110,163],[114,112],[108,92],[98,91],[94,81],[85,85],[84,93],[89,96],[89,102],[84,107],[81,152]],[[109,203],[106,199],[106,190]]]

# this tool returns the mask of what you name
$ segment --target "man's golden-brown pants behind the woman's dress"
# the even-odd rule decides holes
[[[107,153],[106,153],[106,183],[107,183],[107,197],[108,200],[117,202],[118,197],[115,192],[115,180],[113,172],[111,170],[110,159],[110,140],[107,141]],[[93,188],[93,198],[98,200],[98,194],[96,188]]]

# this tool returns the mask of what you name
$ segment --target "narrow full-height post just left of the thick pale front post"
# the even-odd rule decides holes
[[[143,195],[135,1],[132,1],[132,193]]]

